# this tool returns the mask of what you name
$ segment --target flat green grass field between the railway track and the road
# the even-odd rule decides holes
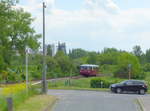
[[[50,89],[82,89],[82,90],[108,90],[104,87],[104,84],[100,88],[92,88],[91,80],[102,78],[106,82],[113,81],[116,82],[118,79],[112,77],[89,77],[89,78],[79,78],[79,79],[65,79],[65,80],[53,80],[49,82],[48,87]],[[122,81],[122,79],[119,79]]]

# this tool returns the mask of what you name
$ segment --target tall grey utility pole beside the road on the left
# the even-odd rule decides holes
[[[42,93],[47,93],[47,83],[46,83],[46,49],[45,49],[45,2],[43,2],[43,75],[42,75]]]

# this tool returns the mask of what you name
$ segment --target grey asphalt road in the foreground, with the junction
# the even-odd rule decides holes
[[[48,94],[59,99],[53,111],[139,111],[135,100],[142,96],[74,90],[49,90]]]

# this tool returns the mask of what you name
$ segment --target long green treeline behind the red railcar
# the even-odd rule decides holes
[[[30,55],[30,65],[39,64],[37,73],[32,77],[41,78],[42,73],[42,55]],[[79,66],[81,64],[97,64],[101,74],[110,74],[110,76],[128,78],[129,70],[132,79],[144,79],[150,72],[149,62],[150,50],[142,52],[140,46],[134,46],[132,52],[117,50],[115,48],[104,48],[101,52],[91,52],[83,49],[72,49],[68,54],[58,50],[52,57],[47,54],[47,77],[66,77],[79,75]],[[30,57],[31,58],[31,57]],[[40,69],[41,68],[41,69]],[[33,71],[33,69],[32,69]],[[38,75],[38,72],[39,75]]]

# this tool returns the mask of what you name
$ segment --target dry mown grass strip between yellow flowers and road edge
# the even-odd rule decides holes
[[[33,96],[19,105],[16,111],[51,111],[55,101],[56,98],[50,95]]]

